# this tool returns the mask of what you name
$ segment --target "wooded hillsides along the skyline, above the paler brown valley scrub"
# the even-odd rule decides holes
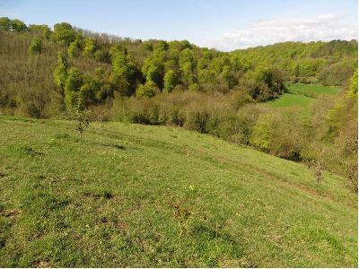
[[[195,91],[239,102],[274,100],[284,82],[346,86],[357,41],[286,42],[229,53],[187,40],[123,39],[66,22],[26,25],[0,18],[0,112],[57,117],[81,106]]]

